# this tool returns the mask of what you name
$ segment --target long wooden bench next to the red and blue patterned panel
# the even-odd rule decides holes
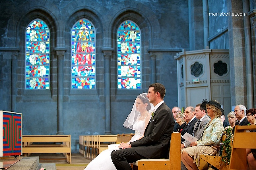
[[[63,153],[71,164],[71,135],[23,135],[23,156],[31,153]]]

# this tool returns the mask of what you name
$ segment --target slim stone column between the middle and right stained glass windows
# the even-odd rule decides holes
[[[110,102],[110,59],[113,49],[102,49],[104,55],[105,83],[105,134],[111,134],[111,102]]]

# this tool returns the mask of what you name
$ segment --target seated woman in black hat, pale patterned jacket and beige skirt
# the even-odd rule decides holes
[[[211,118],[205,126],[201,139],[192,142],[190,146],[181,151],[181,161],[188,170],[197,170],[199,159],[196,164],[196,158],[203,155],[217,155],[220,150],[220,142],[223,133],[223,123],[220,116],[224,114],[220,103],[217,100],[204,100],[202,107],[207,110],[207,115]]]

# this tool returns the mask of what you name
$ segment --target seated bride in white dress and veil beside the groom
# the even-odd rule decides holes
[[[146,97],[147,93],[142,93],[137,96],[132,111],[124,122],[124,127],[135,131],[135,135],[131,138],[130,142],[141,139],[144,136],[145,128],[151,118],[150,109],[154,106],[149,103]],[[122,143],[120,143],[122,144]],[[106,149],[102,151],[96,158],[94,158],[84,170],[116,170],[110,154],[113,149]]]

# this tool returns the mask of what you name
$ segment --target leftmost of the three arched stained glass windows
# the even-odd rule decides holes
[[[26,30],[26,89],[50,88],[50,30],[34,20]]]

